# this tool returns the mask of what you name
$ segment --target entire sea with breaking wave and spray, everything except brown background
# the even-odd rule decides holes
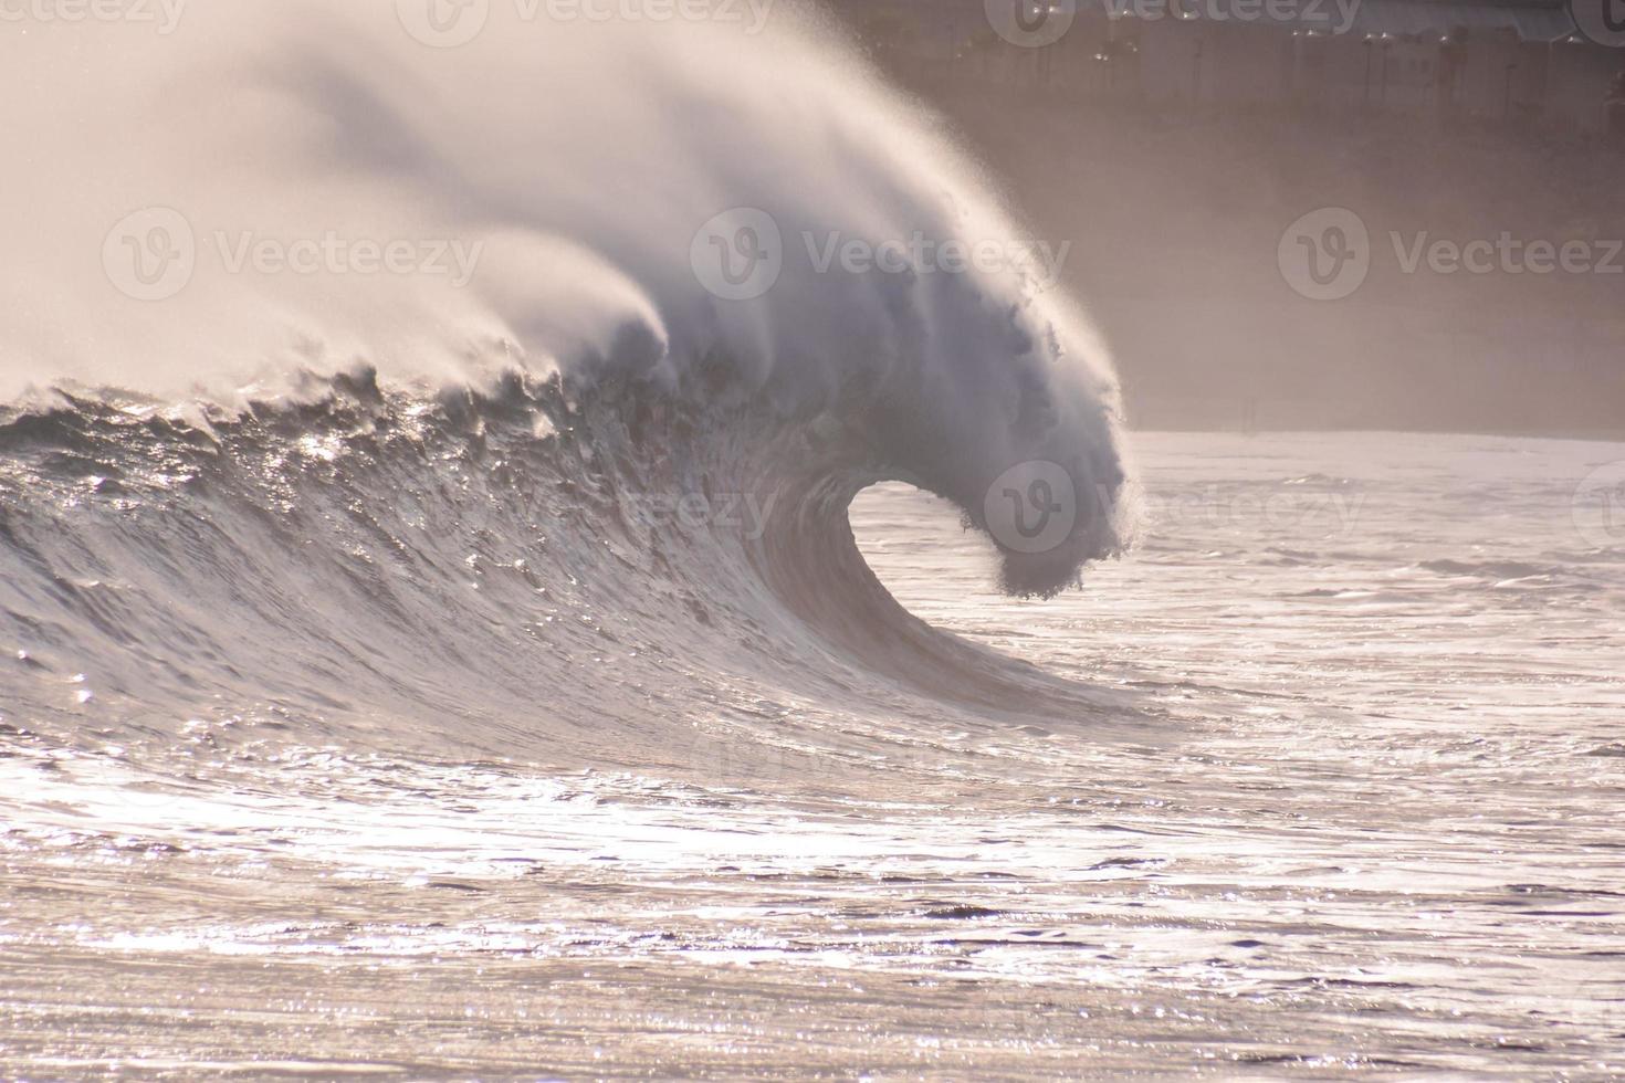
[[[814,13],[538,10],[0,37],[0,1072],[1625,1072],[1625,445],[1129,434]]]

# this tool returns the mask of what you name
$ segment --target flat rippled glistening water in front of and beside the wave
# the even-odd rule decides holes
[[[5,688],[98,659],[5,662],[0,1073],[1625,1075],[1625,541],[1576,502],[1625,445],[1134,447],[1146,541],[1048,602],[946,505],[853,511],[1098,713],[757,672],[582,770],[63,729]]]

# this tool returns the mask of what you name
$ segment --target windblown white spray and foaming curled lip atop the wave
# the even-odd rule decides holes
[[[193,5],[169,34],[8,36],[0,125],[31,164],[8,179],[5,395],[80,382],[242,404],[358,360],[384,385],[520,372],[567,395],[725,406],[754,440],[778,422],[824,434],[808,469],[774,476],[795,507],[829,508],[803,521],[812,533],[881,479],[986,528],[998,477],[1055,464],[1081,513],[1042,552],[1001,546],[1012,591],[1060,589],[1123,546],[1115,383],[1046,283],[1016,261],[821,266],[848,240],[1012,252],[1022,232],[816,19],[474,6],[484,23],[452,47],[414,32],[411,0]],[[195,244],[174,296],[127,296],[104,263],[141,208],[179,214]],[[760,296],[728,299],[696,273],[696,239],[739,214],[772,222],[780,266]],[[330,257],[255,270],[254,245],[294,239],[478,245],[478,263],[466,283]]]

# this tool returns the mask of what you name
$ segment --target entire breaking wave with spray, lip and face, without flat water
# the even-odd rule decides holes
[[[1008,589],[1126,536],[1110,367],[1030,263],[821,265],[1022,247],[930,119],[786,10],[491,5],[432,47],[410,6],[0,44],[3,135],[37,148],[0,268],[0,627],[44,682],[21,701],[96,658],[104,703],[455,718],[583,760],[583,719],[653,740],[741,671],[1082,701],[908,617],[847,523],[897,479],[990,531],[990,487],[1038,463],[1087,498],[1043,550],[999,547]],[[65,86],[70,62],[106,81]],[[309,266],[254,255],[299,240]],[[361,273],[333,255],[358,242],[478,260]],[[708,242],[777,278],[738,296]],[[128,279],[180,250],[179,287]]]

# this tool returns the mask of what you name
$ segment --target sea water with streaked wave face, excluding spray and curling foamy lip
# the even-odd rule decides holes
[[[855,638],[341,398],[0,434],[0,1073],[1625,1073],[1625,445],[1131,434],[1048,601],[876,485]]]

